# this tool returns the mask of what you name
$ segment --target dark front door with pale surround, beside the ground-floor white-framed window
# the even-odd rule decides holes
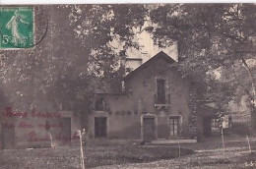
[[[144,141],[155,140],[155,118],[143,119]]]

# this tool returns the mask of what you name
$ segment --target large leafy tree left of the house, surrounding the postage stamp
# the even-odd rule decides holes
[[[43,29],[36,29],[35,37],[43,38],[36,39],[33,48],[0,53],[1,82],[12,106],[19,111],[34,107],[58,111],[62,104],[88,114],[97,79],[120,83],[120,61],[125,49],[136,46],[133,28],[143,25],[147,9],[143,5],[49,5],[34,6],[34,11],[35,26]],[[109,43],[113,39],[124,47],[114,50]]]

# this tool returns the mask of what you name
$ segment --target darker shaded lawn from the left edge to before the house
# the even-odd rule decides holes
[[[193,150],[182,149],[181,155]],[[139,145],[127,141],[94,141],[84,150],[86,168],[96,166],[151,162],[178,156],[178,148],[171,146]],[[1,169],[62,169],[80,167],[80,147],[34,149],[4,149],[0,151]]]

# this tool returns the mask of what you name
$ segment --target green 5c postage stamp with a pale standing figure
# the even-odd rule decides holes
[[[0,7],[0,49],[33,46],[33,8]]]

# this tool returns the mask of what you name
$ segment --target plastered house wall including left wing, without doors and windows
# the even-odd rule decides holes
[[[141,139],[141,117],[145,114],[156,115],[158,139],[170,139],[167,125],[169,116],[181,117],[181,135],[191,137],[189,131],[189,86],[186,79],[173,68],[169,68],[166,60],[158,59],[136,72],[125,81],[126,94],[96,95],[104,97],[107,110],[92,114],[91,137],[94,138],[94,117],[107,117],[107,137]],[[165,80],[165,93],[169,97],[169,105],[165,108],[155,106],[154,96],[157,92],[157,78]]]

